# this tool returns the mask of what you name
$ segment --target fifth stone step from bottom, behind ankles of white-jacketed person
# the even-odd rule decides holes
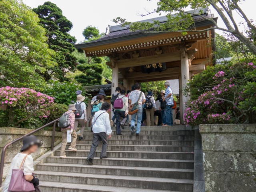
[[[66,150],[67,156],[86,157],[89,150]],[[97,150],[95,157],[100,157],[101,151]],[[147,151],[108,151],[108,157],[114,158],[146,158],[146,159],[183,159],[193,160],[194,152],[147,152]],[[60,151],[55,152],[55,156],[60,156]]]

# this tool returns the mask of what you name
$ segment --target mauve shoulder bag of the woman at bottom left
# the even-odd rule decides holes
[[[28,155],[24,157],[19,169],[12,170],[12,177],[8,187],[8,192],[32,192],[34,185],[28,182],[24,177],[23,167]]]

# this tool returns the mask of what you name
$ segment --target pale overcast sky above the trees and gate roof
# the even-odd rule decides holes
[[[23,0],[23,2],[35,8],[44,4],[46,0]],[[139,16],[140,13],[145,13],[145,10],[154,10],[158,0],[50,0],[50,2],[55,3],[63,11],[64,16],[73,23],[70,34],[76,37],[77,42],[84,40],[82,31],[88,25],[96,26],[100,32],[105,32],[108,25],[116,25],[112,22],[116,17],[138,21],[159,16],[156,13],[144,18]],[[256,20],[255,6],[256,0],[245,0],[241,5],[248,18],[253,20]],[[213,8],[212,13],[218,16]],[[235,18],[237,21],[241,20],[237,14]],[[220,19],[218,25],[224,27]]]

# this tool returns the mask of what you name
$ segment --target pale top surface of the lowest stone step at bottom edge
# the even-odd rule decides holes
[[[71,184],[71,183],[61,183],[61,182],[40,182],[42,187],[52,187],[52,188],[65,188],[65,189],[77,189],[77,190],[89,190],[96,192],[178,192],[178,191],[166,191],[166,190],[151,190],[151,189],[137,189],[137,188],[127,188],[127,187],[113,187],[113,186],[97,186],[97,185],[86,185],[86,184]]]

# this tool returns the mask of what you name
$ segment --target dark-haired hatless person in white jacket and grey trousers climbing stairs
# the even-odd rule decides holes
[[[106,159],[107,157],[107,148],[108,148],[108,139],[111,137],[111,126],[109,115],[107,111],[110,108],[109,103],[103,103],[101,109],[96,112],[92,118],[92,146],[91,150],[87,157],[87,162],[90,165],[93,165],[93,160],[96,152],[96,148],[98,147],[100,139],[102,140],[102,151],[100,154],[101,159]]]

